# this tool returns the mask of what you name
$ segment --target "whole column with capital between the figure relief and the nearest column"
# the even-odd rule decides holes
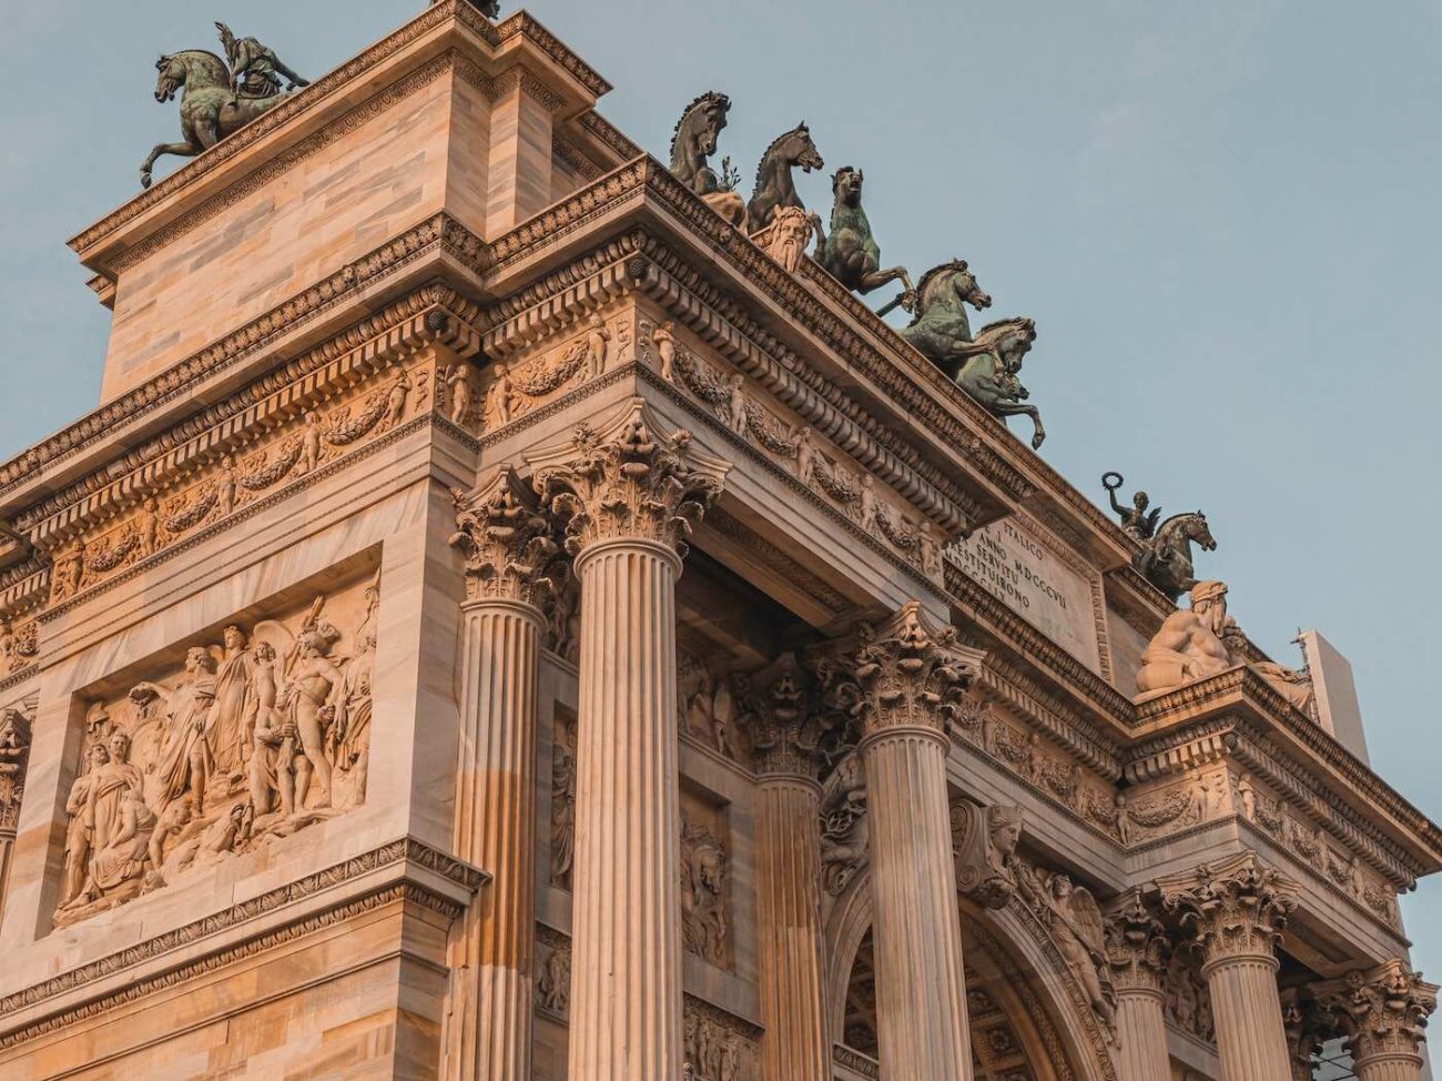
[[[456,492],[466,556],[456,854],[490,872],[451,942],[447,1081],[531,1077],[536,680],[558,548],[510,469]]]

